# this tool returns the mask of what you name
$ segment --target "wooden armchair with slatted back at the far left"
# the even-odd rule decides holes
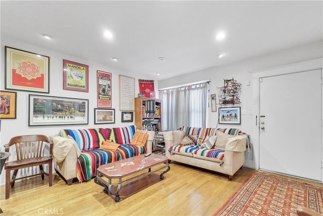
[[[44,156],[44,143],[49,143],[49,156]],[[44,179],[44,175],[47,175],[49,180],[49,187],[52,184],[52,146],[53,142],[48,140],[45,135],[24,135],[16,136],[10,139],[8,144],[5,144],[5,151],[9,152],[10,146],[16,145],[17,160],[9,161],[5,163],[6,170],[6,199],[9,199],[10,195],[10,185],[15,186],[15,180],[18,170],[21,168],[39,166],[40,173],[31,175],[37,176],[41,175]],[[48,173],[43,170],[43,165],[48,164]],[[14,170],[14,175],[10,181],[10,172]],[[25,176],[22,178],[27,178],[31,176]],[[19,178],[19,179],[22,179]]]

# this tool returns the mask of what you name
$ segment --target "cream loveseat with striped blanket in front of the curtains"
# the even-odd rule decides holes
[[[239,129],[183,126],[177,131],[167,131],[163,134],[169,163],[174,160],[223,173],[228,175],[230,181],[242,168],[246,146],[250,142],[249,135]]]

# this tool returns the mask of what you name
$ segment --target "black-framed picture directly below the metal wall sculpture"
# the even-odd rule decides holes
[[[219,124],[241,124],[240,106],[219,108]]]

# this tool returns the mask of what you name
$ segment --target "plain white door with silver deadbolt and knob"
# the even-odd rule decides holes
[[[321,70],[259,79],[259,168],[321,182]]]

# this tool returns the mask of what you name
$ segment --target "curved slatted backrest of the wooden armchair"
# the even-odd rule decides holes
[[[50,143],[51,141],[45,135],[23,135],[11,138],[5,147],[6,151],[9,152],[9,147],[16,145],[17,160],[21,160],[41,157],[43,155],[44,142]],[[50,156],[51,151],[52,149],[50,149]]]

